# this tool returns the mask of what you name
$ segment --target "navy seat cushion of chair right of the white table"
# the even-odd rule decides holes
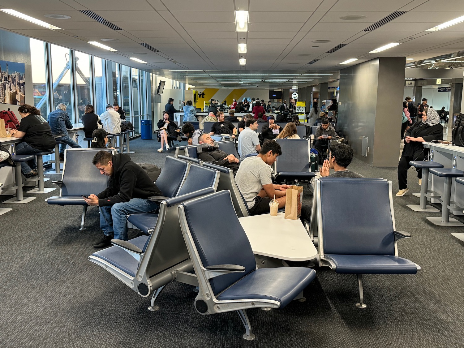
[[[393,255],[324,255],[336,265],[337,273],[416,274],[416,264]]]

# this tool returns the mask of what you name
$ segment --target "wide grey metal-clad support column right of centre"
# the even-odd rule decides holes
[[[374,167],[398,166],[401,111],[391,101],[404,99],[405,63],[381,57],[340,71],[339,128],[354,156]]]

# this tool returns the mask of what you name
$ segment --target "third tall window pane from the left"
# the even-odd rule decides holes
[[[90,87],[90,56],[76,51],[76,94],[79,122],[84,115],[85,105],[92,103]]]

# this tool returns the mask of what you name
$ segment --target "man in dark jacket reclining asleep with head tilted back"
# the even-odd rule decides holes
[[[228,155],[214,143],[211,135],[204,133],[198,138],[197,154],[201,161],[217,164],[232,169],[237,173],[239,160],[234,155]]]

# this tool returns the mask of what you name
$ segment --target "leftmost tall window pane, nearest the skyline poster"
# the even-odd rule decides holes
[[[45,42],[30,39],[32,61],[32,88],[34,106],[47,119],[50,109],[48,106],[47,73],[45,60]],[[24,93],[23,93],[24,94]],[[22,102],[24,104],[24,101]]]

